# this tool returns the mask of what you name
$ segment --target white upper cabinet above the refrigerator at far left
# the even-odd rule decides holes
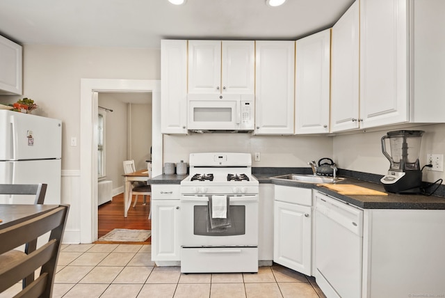
[[[22,46],[0,36],[0,95],[22,95]]]

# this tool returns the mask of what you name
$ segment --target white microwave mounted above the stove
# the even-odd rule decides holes
[[[253,94],[189,94],[187,107],[188,130],[254,130]]]

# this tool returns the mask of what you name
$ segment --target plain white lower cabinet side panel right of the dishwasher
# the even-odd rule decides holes
[[[444,297],[445,210],[364,210],[362,297]]]

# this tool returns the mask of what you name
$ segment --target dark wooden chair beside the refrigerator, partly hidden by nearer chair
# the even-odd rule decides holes
[[[47,184],[42,184],[42,183],[38,185],[0,185],[0,194],[35,196],[34,203],[43,204],[44,195],[47,193],[47,186],[48,186]],[[29,253],[35,251],[36,247],[37,247],[37,238],[25,244],[24,252],[14,249],[5,253],[5,258],[7,257],[8,260],[15,260],[22,258],[25,254],[28,255]],[[26,285],[29,285],[33,281],[34,281],[34,272],[29,276],[26,276],[26,278],[23,280],[22,283],[23,288],[25,288]]]

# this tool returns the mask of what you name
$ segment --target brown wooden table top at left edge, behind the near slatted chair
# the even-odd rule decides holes
[[[44,214],[56,207],[58,205],[0,204],[0,230],[31,219],[38,214]]]

